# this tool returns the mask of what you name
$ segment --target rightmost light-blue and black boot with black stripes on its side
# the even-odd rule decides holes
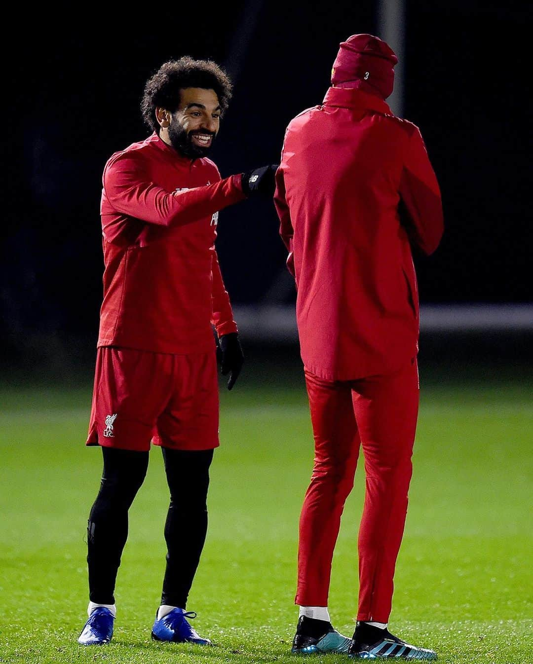
[[[434,650],[409,645],[391,634],[388,629],[379,629],[366,623],[358,623],[348,649],[348,656],[352,659],[406,659],[407,661],[437,659]]]

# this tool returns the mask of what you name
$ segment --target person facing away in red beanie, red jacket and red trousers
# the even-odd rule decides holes
[[[372,35],[340,44],[324,103],[288,125],[276,175],[315,459],[300,517],[293,652],[435,659],[387,629],[411,479],[419,310],[411,246],[435,251],[441,196],[415,125],[385,103],[397,58]],[[333,550],[364,450],[358,624],[330,623]]]

